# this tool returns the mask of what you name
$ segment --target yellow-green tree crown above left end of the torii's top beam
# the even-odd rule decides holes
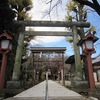
[[[29,19],[27,11],[32,8],[32,0],[9,0],[9,5],[17,12],[17,20]]]

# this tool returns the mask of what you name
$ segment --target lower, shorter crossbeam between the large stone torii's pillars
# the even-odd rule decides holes
[[[64,31],[25,31],[28,36],[73,36],[72,32]]]

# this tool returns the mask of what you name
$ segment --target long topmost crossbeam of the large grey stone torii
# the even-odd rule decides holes
[[[67,22],[67,21],[15,21],[16,24],[34,27],[90,27],[89,22]]]

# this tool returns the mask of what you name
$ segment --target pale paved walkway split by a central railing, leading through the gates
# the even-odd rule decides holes
[[[45,99],[46,81],[6,100],[47,100]],[[48,100],[86,100],[80,94],[48,80]],[[89,100],[89,99],[88,99]]]

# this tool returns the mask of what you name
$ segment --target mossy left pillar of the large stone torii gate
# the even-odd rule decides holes
[[[23,49],[23,44],[24,44],[24,32],[25,32],[25,26],[22,26],[22,29],[19,33],[18,46],[16,50],[15,63],[14,63],[14,69],[13,69],[13,75],[12,75],[12,80],[16,80],[16,81],[18,81],[20,78],[22,49]]]

